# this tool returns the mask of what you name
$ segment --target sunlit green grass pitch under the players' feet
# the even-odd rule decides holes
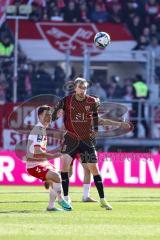
[[[160,239],[158,188],[106,188],[112,211],[82,203],[82,188],[70,192],[72,212],[46,212],[43,187],[0,186],[0,240]]]

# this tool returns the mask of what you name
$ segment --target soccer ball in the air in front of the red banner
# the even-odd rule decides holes
[[[105,48],[110,43],[111,38],[106,32],[98,32],[94,37],[94,43],[96,47]]]

